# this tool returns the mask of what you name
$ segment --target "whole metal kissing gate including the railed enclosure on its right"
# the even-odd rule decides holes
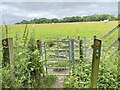
[[[43,45],[40,40],[37,42],[39,47],[42,47],[40,54],[45,58],[46,74],[69,75],[75,61],[80,59],[85,61],[92,57],[92,39],[90,38],[78,36],[78,39],[46,40]]]

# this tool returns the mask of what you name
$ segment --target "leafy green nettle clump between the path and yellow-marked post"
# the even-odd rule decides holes
[[[90,87],[90,62],[78,60],[71,70],[70,76],[64,81],[64,86],[67,88],[89,88]]]

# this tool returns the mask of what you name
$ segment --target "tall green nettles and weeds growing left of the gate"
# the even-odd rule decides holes
[[[11,83],[11,69],[9,66],[2,68],[3,88],[24,88],[41,87],[44,77],[42,57],[39,56],[36,48],[34,33],[28,38],[26,28],[23,37],[16,34],[14,39],[14,85]]]

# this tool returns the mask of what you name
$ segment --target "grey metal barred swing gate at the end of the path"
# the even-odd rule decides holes
[[[69,75],[74,62],[74,39],[52,40],[44,42],[44,56],[46,73]]]

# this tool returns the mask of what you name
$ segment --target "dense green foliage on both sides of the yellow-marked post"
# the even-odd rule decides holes
[[[118,55],[113,50],[104,54],[100,60],[98,88],[118,88]],[[90,88],[91,60],[86,62],[80,60],[75,64],[75,69],[71,70],[71,75],[64,81],[67,88]]]

